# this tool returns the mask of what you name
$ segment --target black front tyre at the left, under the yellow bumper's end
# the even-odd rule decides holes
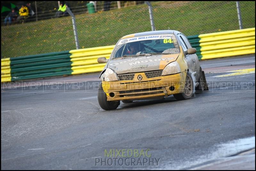
[[[120,101],[107,101],[106,93],[102,89],[102,83],[100,83],[98,89],[98,102],[104,110],[114,110],[120,105]]]

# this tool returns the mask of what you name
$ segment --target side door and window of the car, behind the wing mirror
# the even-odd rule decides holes
[[[184,51],[187,51],[188,48],[192,48],[191,44],[188,41],[188,38],[183,34],[178,34],[178,38],[181,42],[181,45],[185,47]],[[200,64],[196,54],[187,54],[185,56],[185,60],[188,63],[188,68],[191,73],[196,72],[196,80],[199,79],[199,71],[200,71]]]

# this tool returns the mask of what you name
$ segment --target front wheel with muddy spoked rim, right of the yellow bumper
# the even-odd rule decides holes
[[[187,72],[184,91],[179,94],[174,94],[173,96],[174,98],[176,98],[176,100],[185,100],[185,99],[191,98],[193,94],[194,94],[194,82],[191,74]]]

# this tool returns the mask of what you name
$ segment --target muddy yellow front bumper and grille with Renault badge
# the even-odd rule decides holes
[[[154,78],[147,78],[145,73],[136,73],[133,80],[103,81],[102,88],[108,101],[168,97],[184,90],[185,78],[185,71]]]

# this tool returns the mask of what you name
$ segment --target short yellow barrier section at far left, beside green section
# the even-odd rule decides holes
[[[12,79],[10,63],[10,58],[1,59],[1,82],[10,82]]]

